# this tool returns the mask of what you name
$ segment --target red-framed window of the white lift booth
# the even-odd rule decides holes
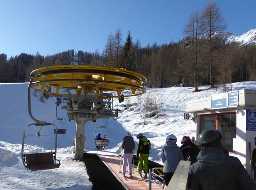
[[[236,138],[236,112],[208,114],[200,116],[200,133],[205,129],[216,129],[221,132],[221,144],[233,152],[233,138]]]

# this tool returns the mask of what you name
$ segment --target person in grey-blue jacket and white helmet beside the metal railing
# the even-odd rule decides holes
[[[164,163],[163,166],[163,174],[165,178],[165,184],[168,185],[176,168],[178,167],[178,163],[183,159],[182,151],[176,144],[177,137],[171,134],[166,138],[166,142],[161,149],[161,158]]]

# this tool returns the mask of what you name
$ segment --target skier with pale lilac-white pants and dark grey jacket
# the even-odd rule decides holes
[[[122,156],[123,156],[123,166],[122,166],[122,175],[125,177],[126,173],[126,166],[128,163],[128,176],[129,178],[132,177],[132,156],[133,156],[133,150],[135,149],[135,143],[133,141],[132,135],[130,132],[127,132],[125,134],[125,137],[122,142]]]

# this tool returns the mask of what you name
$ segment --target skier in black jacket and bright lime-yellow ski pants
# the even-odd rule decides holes
[[[149,157],[149,150],[151,149],[151,143],[149,140],[147,140],[147,137],[143,136],[142,133],[137,134],[137,139],[139,139],[139,146],[137,151],[137,157],[139,158],[138,166],[137,166],[137,172],[140,178],[142,178],[142,164],[144,167],[144,178],[147,178],[147,160]]]

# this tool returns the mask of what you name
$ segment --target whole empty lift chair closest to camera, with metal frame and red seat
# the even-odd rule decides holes
[[[27,129],[32,125],[39,126],[38,132],[35,135],[26,135]],[[23,131],[21,155],[22,155],[23,165],[26,167],[27,170],[31,170],[31,171],[48,170],[48,169],[59,168],[60,166],[60,161],[56,159],[56,152],[57,152],[57,134],[56,133],[55,133],[55,151],[54,152],[52,150],[52,147],[51,147],[51,152],[42,152],[42,153],[28,154],[28,153],[25,153],[25,150],[24,150],[24,142],[26,137],[49,137],[50,143],[51,143],[50,135],[40,134],[41,129],[47,125],[53,125],[54,129],[57,130],[56,125],[52,123],[32,123],[27,125]]]

